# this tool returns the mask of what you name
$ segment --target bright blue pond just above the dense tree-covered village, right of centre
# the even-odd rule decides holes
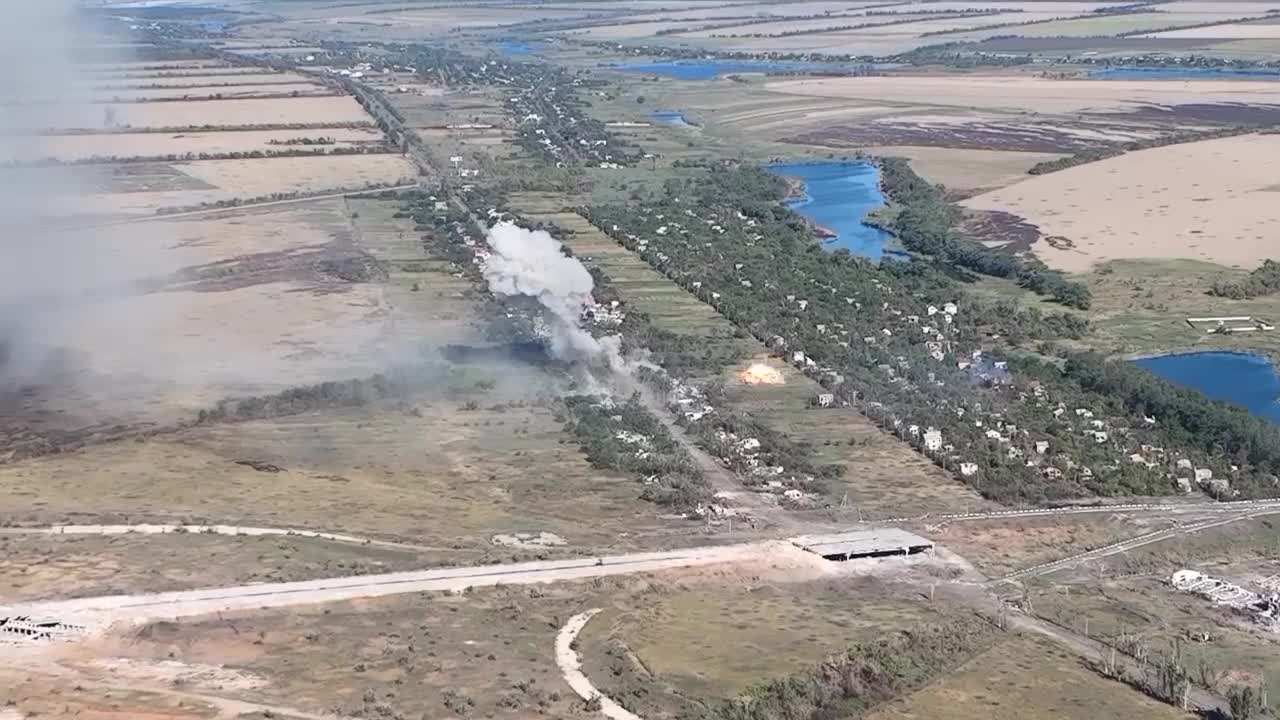
[[[892,233],[863,223],[867,213],[884,205],[879,168],[863,161],[774,163],[769,169],[804,181],[804,197],[787,206],[836,233],[828,249],[879,260]]]

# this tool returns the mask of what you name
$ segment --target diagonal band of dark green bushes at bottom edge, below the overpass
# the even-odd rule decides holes
[[[1000,637],[989,623],[954,616],[851,646],[818,666],[750,688],[690,720],[858,719],[908,696],[988,650]]]

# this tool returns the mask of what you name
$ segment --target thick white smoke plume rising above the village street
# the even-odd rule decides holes
[[[626,373],[622,338],[596,338],[582,327],[582,310],[593,304],[595,282],[582,263],[564,255],[545,231],[503,222],[489,228],[493,254],[484,278],[497,295],[534,297],[547,310],[550,352],[566,363],[604,366]]]

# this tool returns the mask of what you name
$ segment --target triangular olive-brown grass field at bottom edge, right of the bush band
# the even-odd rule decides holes
[[[1107,680],[1038,637],[1018,637],[927,688],[877,708],[869,720],[1190,720],[1164,702]]]

